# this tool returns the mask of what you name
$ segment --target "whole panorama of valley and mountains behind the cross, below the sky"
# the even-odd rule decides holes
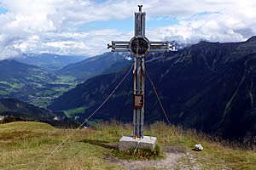
[[[171,122],[226,139],[253,140],[255,47],[256,38],[251,37],[246,42],[202,41],[178,51],[148,54],[148,75]],[[84,122],[124,77],[131,62],[127,54],[106,53],[48,72],[3,60],[0,65],[6,74],[0,73],[1,98],[64,111],[69,119]],[[12,70],[4,65],[13,65]],[[130,73],[91,123],[132,122],[132,78]],[[166,121],[148,77],[145,99],[145,123]]]

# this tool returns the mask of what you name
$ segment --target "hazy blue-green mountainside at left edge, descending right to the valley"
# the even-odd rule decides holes
[[[0,68],[0,99],[15,97],[26,100],[27,96],[42,88],[42,84],[55,79],[38,66],[26,65],[15,60],[0,61]]]

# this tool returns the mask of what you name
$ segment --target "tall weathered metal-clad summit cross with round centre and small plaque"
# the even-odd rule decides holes
[[[146,13],[143,5],[138,5],[135,13],[135,35],[130,42],[112,41],[108,48],[113,52],[130,52],[135,57],[134,94],[133,94],[133,137],[143,138],[144,124],[144,88],[145,88],[145,57],[149,52],[168,52],[172,45],[169,42],[150,42],[145,37]]]

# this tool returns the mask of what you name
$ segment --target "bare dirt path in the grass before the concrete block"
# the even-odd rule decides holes
[[[160,161],[134,161],[134,160],[122,160],[117,158],[108,158],[115,164],[129,170],[147,170],[147,169],[183,169],[183,170],[196,170],[197,167],[191,165],[190,156],[186,156],[185,150],[182,147],[166,147],[166,158]],[[189,159],[189,161],[188,161]]]

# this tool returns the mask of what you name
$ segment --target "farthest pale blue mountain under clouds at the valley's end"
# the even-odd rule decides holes
[[[79,55],[59,55],[59,54],[23,54],[16,61],[27,65],[37,65],[45,71],[56,71],[62,67],[82,61],[86,56]]]

